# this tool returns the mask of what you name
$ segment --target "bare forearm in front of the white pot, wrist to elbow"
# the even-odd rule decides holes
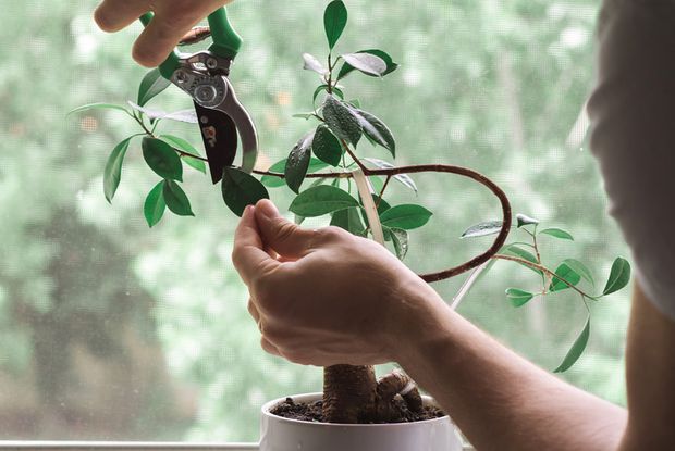
[[[429,311],[398,361],[477,449],[618,447],[627,417],[623,409],[538,368],[442,301],[421,303]]]

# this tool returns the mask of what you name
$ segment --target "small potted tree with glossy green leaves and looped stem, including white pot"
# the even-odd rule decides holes
[[[584,263],[572,258],[563,259],[552,267],[543,263],[538,240],[544,237],[573,240],[572,235],[561,228],[540,228],[537,220],[521,214],[516,216],[516,223],[512,226],[508,199],[489,178],[452,165],[395,166],[386,161],[364,158],[364,146],[359,145],[366,141],[386,149],[395,158],[394,135],[382,120],[366,111],[358,101],[347,98],[340,82],[353,74],[384,77],[395,72],[398,65],[382,50],[335,52],[347,24],[347,10],[342,0],[328,4],[323,23],[328,41],[326,63],[310,54],[303,55],[304,68],[316,72],[320,77],[320,84],[311,96],[312,111],[296,115],[307,121],[308,133],[297,141],[286,159],[267,170],[256,168],[248,174],[236,167],[225,167],[221,184],[224,203],[241,215],[246,205],[269,198],[268,188],[286,186],[295,193],[289,210],[298,223],[307,217],[329,217],[330,225],[361,237],[371,237],[403,260],[408,248],[408,233],[425,226],[432,213],[413,203],[391,205],[385,196],[391,183],[401,183],[416,191],[417,186],[410,174],[455,174],[471,178],[498,197],[503,217],[471,226],[463,237],[494,235],[493,242],[487,251],[466,263],[420,277],[432,283],[474,270],[455,298],[454,308],[479,276],[498,260],[518,263],[541,279],[541,290],[538,292],[506,289],[506,297],[516,308],[537,296],[576,291],[588,311],[588,318],[555,372],[568,369],[588,342],[589,302],[627,285],[630,274],[628,262],[617,258],[602,293],[592,296],[580,288],[582,281],[594,284],[591,272]],[[191,41],[207,34],[207,30],[199,28],[191,36]],[[169,85],[159,71],[154,70],[143,79],[136,103],[98,103],[75,110],[116,109],[138,124],[139,133],[121,141],[110,154],[105,168],[103,190],[107,200],[112,201],[130,143],[142,138],[144,159],[160,177],[144,203],[144,214],[150,227],[162,218],[167,209],[181,216],[193,215],[188,197],[181,187],[183,168],[188,165],[207,172],[207,160],[193,145],[181,137],[158,133],[160,124],[165,121],[196,122],[195,115],[192,112],[169,114],[146,107]],[[524,234],[527,241],[507,245],[512,228]],[[262,408],[261,431],[261,449],[265,451],[461,449],[449,417],[430,398],[420,396],[414,381],[401,372],[378,380],[371,366],[335,365],[324,368],[323,392],[294,396],[266,404]]]

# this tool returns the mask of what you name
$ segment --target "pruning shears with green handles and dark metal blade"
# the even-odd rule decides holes
[[[140,17],[146,26],[151,21],[152,13]],[[258,155],[258,135],[229,79],[242,38],[230,25],[224,7],[212,12],[208,22],[213,40],[208,50],[191,54],[174,49],[160,64],[159,72],[193,98],[211,179],[217,184],[224,168],[234,163],[237,133],[242,141],[241,170],[253,171]]]

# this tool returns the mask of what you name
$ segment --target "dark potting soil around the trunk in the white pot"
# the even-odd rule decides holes
[[[410,412],[405,401],[403,399],[400,399],[398,397],[394,398],[393,403],[395,412],[397,412],[396,417],[389,418],[389,421],[386,422],[369,421],[367,423],[364,422],[363,424],[413,423],[445,416],[445,412],[433,405],[425,405],[421,412],[416,413]],[[323,415],[321,414],[322,404],[323,402],[321,400],[314,402],[296,403],[295,401],[293,401],[293,398],[286,398],[285,401],[273,406],[270,410],[270,413],[277,416],[281,416],[283,418],[298,419],[302,422],[326,423],[323,421]]]

